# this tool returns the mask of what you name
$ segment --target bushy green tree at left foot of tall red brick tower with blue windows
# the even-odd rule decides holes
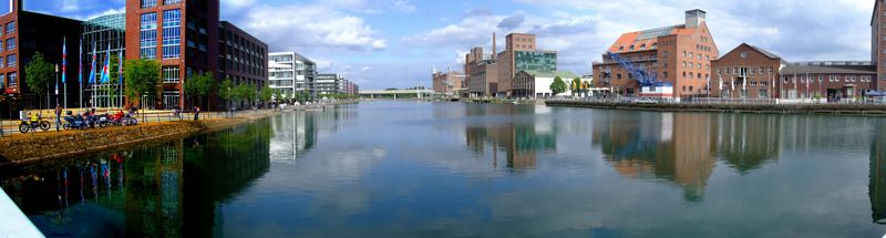
[[[154,60],[127,60],[124,64],[124,94],[133,99],[142,95],[156,95],[163,86],[159,63]]]

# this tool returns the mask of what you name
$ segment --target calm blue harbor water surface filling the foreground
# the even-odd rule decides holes
[[[362,102],[0,186],[48,236],[879,237],[886,118]]]

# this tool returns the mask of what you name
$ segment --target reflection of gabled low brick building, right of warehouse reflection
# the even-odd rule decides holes
[[[781,121],[775,115],[724,114],[718,116],[717,151],[742,174],[779,158]]]

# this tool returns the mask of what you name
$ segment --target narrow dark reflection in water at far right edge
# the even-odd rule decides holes
[[[867,188],[874,223],[886,224],[886,124],[879,123],[876,128],[870,143]]]

